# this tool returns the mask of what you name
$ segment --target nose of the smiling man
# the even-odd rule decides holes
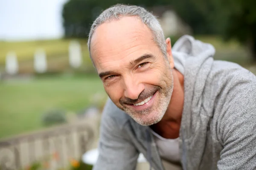
[[[124,79],[125,84],[125,91],[124,95],[125,97],[129,99],[138,99],[140,93],[145,89],[145,86],[143,83],[139,81],[139,79],[136,79],[135,77],[126,77]]]

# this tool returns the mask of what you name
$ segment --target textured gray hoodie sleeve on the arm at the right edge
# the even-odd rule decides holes
[[[219,127],[223,149],[217,167],[256,170],[256,81],[239,83],[232,93]]]

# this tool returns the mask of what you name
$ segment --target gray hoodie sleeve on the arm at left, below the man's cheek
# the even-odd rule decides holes
[[[137,165],[139,153],[119,122],[111,116],[115,111],[109,100],[102,113],[99,158],[93,170],[134,170]]]

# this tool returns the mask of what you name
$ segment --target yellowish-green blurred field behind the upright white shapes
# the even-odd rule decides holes
[[[87,40],[80,39],[83,63],[80,70],[92,72],[93,65],[90,61],[87,48]],[[9,51],[15,51],[19,62],[20,74],[33,74],[34,63],[33,57],[37,49],[44,49],[47,55],[47,71],[48,72],[63,72],[70,69],[68,59],[68,48],[71,40],[41,40],[41,41],[26,41],[26,42],[1,42],[0,41],[0,72],[4,71],[6,54]]]

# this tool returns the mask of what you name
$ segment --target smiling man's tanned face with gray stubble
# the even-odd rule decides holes
[[[91,55],[105,91],[140,125],[159,122],[169,105],[172,68],[137,17],[122,17],[96,28]]]

